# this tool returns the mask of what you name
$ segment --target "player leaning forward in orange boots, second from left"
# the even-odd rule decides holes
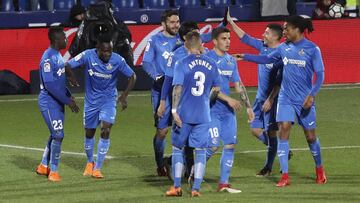
[[[84,176],[103,178],[101,167],[110,146],[110,130],[115,122],[117,103],[122,110],[127,108],[127,96],[133,88],[136,75],[126,64],[124,58],[113,52],[111,36],[100,36],[95,49],[88,49],[67,62],[66,67],[71,77],[70,68],[85,66],[85,152],[87,164]],[[119,74],[128,80],[126,89],[118,97],[116,84]],[[101,123],[100,139],[97,146],[97,159],[94,162],[95,132]]]

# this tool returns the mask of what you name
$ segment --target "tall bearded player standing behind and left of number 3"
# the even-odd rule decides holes
[[[170,98],[166,98],[165,111],[162,117],[158,117],[157,110],[160,105],[161,89],[164,82],[165,69],[171,52],[180,47],[178,31],[180,27],[179,14],[175,10],[165,10],[161,15],[161,25],[164,29],[150,38],[145,49],[143,58],[143,69],[153,79],[151,88],[151,102],[155,120],[156,133],[153,139],[155,161],[159,176],[170,177],[169,171],[164,165],[165,137],[168,127],[171,125]],[[211,34],[201,35],[203,42],[211,40]]]

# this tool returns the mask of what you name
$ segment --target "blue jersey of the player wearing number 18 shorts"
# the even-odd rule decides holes
[[[214,50],[206,54],[209,58],[215,60],[221,78],[220,90],[226,95],[230,95],[230,82],[240,82],[240,75],[237,62],[230,54],[225,53],[223,56],[216,54]],[[217,99],[211,107],[213,113],[233,112],[233,109],[224,101]]]

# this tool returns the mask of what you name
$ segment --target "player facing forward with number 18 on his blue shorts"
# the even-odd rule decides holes
[[[206,158],[210,159],[216,152],[221,139],[224,148],[220,161],[220,181],[217,191],[239,193],[241,192],[240,190],[232,189],[229,184],[234,161],[234,148],[237,143],[237,121],[234,111],[240,109],[239,101],[229,97],[230,82],[234,83],[235,91],[240,95],[240,100],[246,107],[249,122],[254,120],[254,112],[251,108],[246,89],[240,80],[237,61],[227,53],[230,48],[230,30],[227,28],[216,28],[212,32],[212,38],[214,49],[206,55],[217,63],[222,79],[220,85],[222,94],[219,95],[215,102],[212,102],[209,148],[206,152]]]

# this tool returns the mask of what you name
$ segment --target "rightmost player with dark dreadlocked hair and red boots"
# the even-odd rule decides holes
[[[242,55],[244,60],[256,63],[284,63],[283,79],[278,98],[276,121],[279,122],[279,141],[277,154],[282,176],[276,184],[284,187],[290,184],[288,175],[289,136],[295,118],[304,130],[311,154],[315,161],[316,183],[326,183],[321,160],[320,141],[316,137],[315,96],[324,81],[324,64],[320,48],[304,37],[305,32],[314,30],[310,19],[290,16],[284,22],[286,42],[268,55]],[[313,84],[313,76],[316,80]]]

